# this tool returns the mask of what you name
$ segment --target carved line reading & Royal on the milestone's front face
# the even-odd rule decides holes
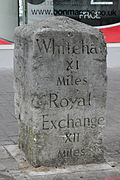
[[[73,109],[74,107],[91,106],[91,93],[84,97],[62,97],[58,93],[50,93],[48,95],[31,96],[32,105],[35,108],[49,107],[49,108],[65,108]],[[101,120],[102,121],[102,120]]]

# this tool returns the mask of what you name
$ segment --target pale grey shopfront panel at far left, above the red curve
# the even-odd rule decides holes
[[[0,37],[13,41],[18,26],[18,0],[0,0]]]

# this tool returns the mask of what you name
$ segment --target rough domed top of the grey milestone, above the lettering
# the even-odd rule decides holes
[[[15,28],[15,41],[16,38],[22,38],[26,40],[32,40],[36,33],[43,32],[73,32],[73,33],[86,33],[100,38],[105,44],[104,36],[102,32],[93,28],[90,25],[78,22],[66,16],[53,16],[40,20],[38,22],[33,22],[31,24],[22,25]]]

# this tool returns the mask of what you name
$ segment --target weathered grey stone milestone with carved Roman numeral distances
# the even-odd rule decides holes
[[[19,147],[34,166],[104,161],[106,43],[68,17],[15,31]]]

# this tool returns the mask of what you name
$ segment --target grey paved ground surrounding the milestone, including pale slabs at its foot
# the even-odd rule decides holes
[[[0,69],[0,180],[120,180],[120,68],[108,68],[107,96],[105,164],[35,169],[17,146],[13,71]]]

